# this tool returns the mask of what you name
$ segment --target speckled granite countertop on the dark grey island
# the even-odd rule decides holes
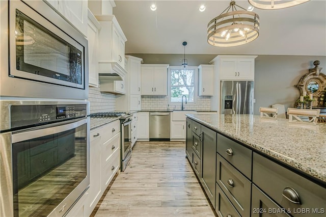
[[[326,184],[324,123],[289,122],[258,115],[186,116]]]

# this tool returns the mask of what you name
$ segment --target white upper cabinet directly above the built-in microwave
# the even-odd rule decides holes
[[[58,11],[68,22],[75,26],[79,32],[87,36],[87,1],[61,0],[58,4]]]

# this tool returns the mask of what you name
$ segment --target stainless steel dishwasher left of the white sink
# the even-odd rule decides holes
[[[149,140],[170,141],[170,112],[149,113]]]

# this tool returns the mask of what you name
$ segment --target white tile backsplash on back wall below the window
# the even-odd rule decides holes
[[[142,96],[142,110],[167,110],[169,98],[167,96]],[[185,110],[209,111],[210,97],[198,96],[196,103],[183,105]],[[170,110],[181,110],[181,102],[169,104]]]

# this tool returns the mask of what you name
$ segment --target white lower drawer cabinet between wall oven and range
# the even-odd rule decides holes
[[[119,169],[120,120],[117,120],[90,132],[90,187],[84,200],[84,215],[77,212],[71,216],[90,216]]]

